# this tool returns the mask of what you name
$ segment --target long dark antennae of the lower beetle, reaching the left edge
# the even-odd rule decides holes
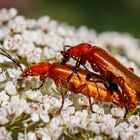
[[[14,59],[13,57],[10,56],[10,54],[8,54],[4,49],[0,48],[0,50],[2,52],[0,52],[1,55],[9,58],[12,62],[14,62],[19,68],[20,70],[23,72],[23,68],[21,67],[21,65],[16,61],[16,59]]]

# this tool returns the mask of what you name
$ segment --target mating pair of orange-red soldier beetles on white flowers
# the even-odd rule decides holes
[[[140,98],[140,78],[131,69],[126,68],[100,47],[87,43],[82,43],[68,49],[65,47],[61,51],[63,55],[61,64],[41,62],[24,70],[5,50],[1,49],[1,51],[0,54],[8,57],[20,67],[22,73],[19,81],[28,76],[38,75],[42,81],[41,87],[48,77],[52,78],[61,90],[61,108],[64,104],[62,87],[74,93],[86,95],[89,99],[91,110],[90,97],[94,97],[100,101],[113,102],[122,108],[125,107],[129,111],[133,111],[138,105]],[[76,60],[75,66],[66,64],[70,58]],[[86,61],[91,64],[93,72],[88,71],[85,67]],[[86,70],[80,69],[80,65],[83,65]],[[94,72],[99,72],[99,75]]]

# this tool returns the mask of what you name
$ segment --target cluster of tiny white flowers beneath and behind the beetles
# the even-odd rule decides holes
[[[64,44],[92,43],[111,51],[140,75],[139,40],[129,34],[97,34],[85,26],[76,29],[58,23],[49,16],[26,19],[11,8],[0,10],[0,42],[26,66],[60,60],[58,54]],[[48,79],[45,88],[33,91],[32,87],[39,86],[39,79],[29,77],[19,88],[20,73],[8,58],[0,55],[0,140],[139,139],[138,113],[125,120],[125,111],[110,104],[94,104],[95,113],[91,113],[86,97],[69,92],[58,114],[61,96],[57,86]]]

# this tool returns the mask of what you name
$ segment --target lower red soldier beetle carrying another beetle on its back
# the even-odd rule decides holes
[[[71,65],[62,65],[60,63],[49,64],[48,62],[41,62],[32,65],[30,67],[27,67],[23,70],[21,65],[14,58],[12,58],[3,49],[1,50],[2,53],[0,52],[0,54],[8,57],[18,67],[20,67],[22,73],[18,79],[19,82],[26,79],[28,76],[40,76],[40,80],[42,81],[42,84],[40,85],[41,87],[43,86],[43,83],[45,82],[45,80],[47,80],[48,77],[53,79],[53,81],[55,82],[57,87],[60,88],[61,91],[62,105],[60,110],[62,109],[64,104],[64,93],[62,91],[62,87],[74,93],[81,93],[87,96],[89,99],[90,109],[92,112],[93,109],[92,109],[91,97],[93,97],[96,100],[113,102],[116,105],[120,106],[121,108],[125,107],[119,89],[115,87],[114,88],[115,90],[113,91],[112,94],[109,90],[107,90],[104,84],[104,79],[100,75],[94,73],[92,74],[92,77],[94,77],[94,81],[96,81],[95,83],[92,80],[93,78],[91,77],[91,75],[89,75],[89,73],[86,70],[78,69],[77,74],[74,74],[73,77],[71,77],[70,81],[67,82],[67,78],[72,73],[74,68]],[[96,86],[98,87],[98,90]],[[100,96],[98,96],[99,94]]]

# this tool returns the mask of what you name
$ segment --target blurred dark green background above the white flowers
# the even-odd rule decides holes
[[[49,15],[77,27],[129,32],[140,38],[140,0],[10,0],[9,3],[8,7],[17,7],[27,17]]]

